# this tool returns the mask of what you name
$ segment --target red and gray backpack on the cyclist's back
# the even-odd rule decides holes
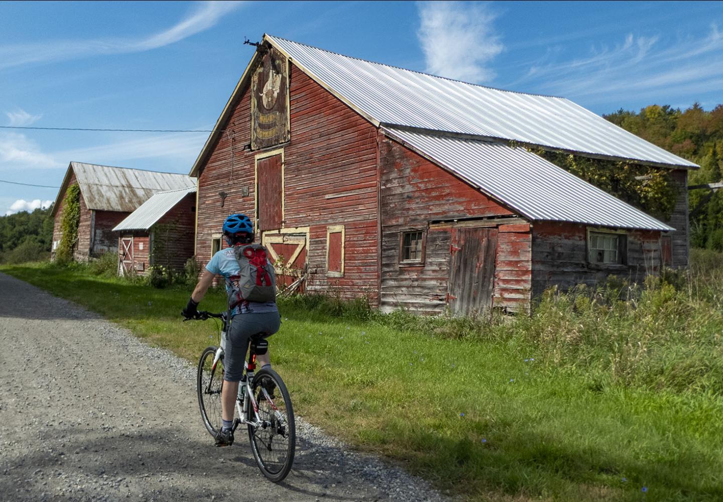
[[[268,260],[268,250],[261,244],[237,246],[234,250],[239,262],[239,275],[231,277],[228,308],[241,302],[275,302],[276,276]]]

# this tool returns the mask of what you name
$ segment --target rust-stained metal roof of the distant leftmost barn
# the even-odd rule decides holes
[[[58,208],[59,198],[67,188],[72,172],[80,185],[85,205],[88,209],[95,210],[130,213],[155,192],[177,190],[196,184],[195,179],[185,174],[71,162],[56,196],[53,213]]]

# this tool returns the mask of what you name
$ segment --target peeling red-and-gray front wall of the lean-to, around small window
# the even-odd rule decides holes
[[[450,228],[431,221],[513,216],[508,208],[419,156],[380,137],[382,310],[440,313],[447,306]],[[401,233],[427,231],[424,263],[400,266]]]

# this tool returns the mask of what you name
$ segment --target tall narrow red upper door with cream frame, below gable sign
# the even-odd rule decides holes
[[[283,153],[256,158],[257,229],[278,230],[283,224]]]

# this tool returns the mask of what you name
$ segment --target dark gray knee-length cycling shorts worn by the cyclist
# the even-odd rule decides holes
[[[223,341],[223,380],[238,382],[244,374],[244,361],[249,340],[256,333],[273,335],[281,327],[281,316],[276,312],[248,312],[234,315],[231,329]]]

